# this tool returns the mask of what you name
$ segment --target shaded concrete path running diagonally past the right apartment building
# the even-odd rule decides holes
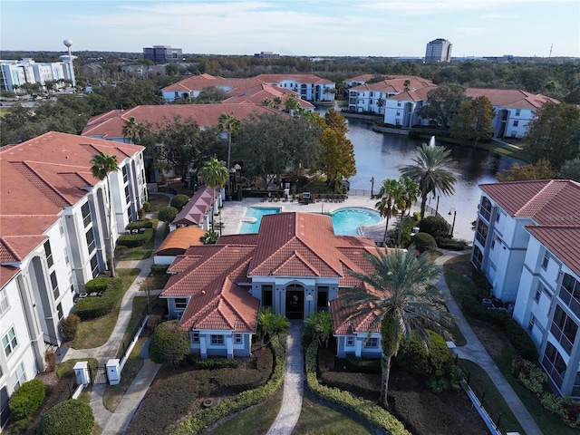
[[[435,263],[442,266],[449,258],[453,256],[458,256],[465,254],[465,252],[453,252],[444,251],[444,255],[437,258]],[[483,344],[479,341],[476,333],[473,332],[471,326],[469,326],[467,320],[455,299],[451,296],[449,292],[449,286],[445,281],[445,276],[441,274],[439,282],[436,284],[437,288],[441,292],[448,295],[446,300],[447,307],[451,314],[454,314],[457,318],[457,323],[459,326],[459,331],[465,337],[467,344],[465,346],[456,347],[452,351],[459,358],[466,359],[478,364],[483,370],[488,373],[489,378],[494,383],[498,391],[501,393],[504,400],[507,402],[507,406],[514,413],[514,416],[519,421],[522,429],[526,431],[527,435],[542,435],[542,430],[537,426],[536,421],[532,418],[531,414],[527,411],[526,406],[519,400],[516,391],[511,388],[509,382],[506,381],[503,374],[499,372],[498,366],[489,356],[488,351],[486,351]]]

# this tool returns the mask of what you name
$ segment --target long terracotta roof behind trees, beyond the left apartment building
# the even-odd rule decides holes
[[[125,122],[134,118],[152,131],[159,131],[168,123],[179,117],[181,121],[192,120],[200,128],[218,125],[222,113],[231,114],[237,120],[247,120],[252,113],[273,113],[279,111],[253,102],[219,104],[167,104],[137,106],[127,111],[108,111],[93,116],[84,126],[82,136],[93,136],[102,139],[122,138]]]

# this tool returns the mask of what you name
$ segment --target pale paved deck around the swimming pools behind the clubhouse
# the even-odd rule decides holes
[[[266,207],[281,208],[282,212],[301,211],[306,213],[324,213],[328,214],[339,208],[345,207],[362,207],[375,209],[376,199],[369,197],[349,196],[343,202],[315,202],[313,204],[300,204],[295,202],[269,202],[263,201],[262,198],[245,198],[243,201],[225,201],[222,208],[223,235],[239,234],[239,228],[242,224],[242,218],[246,216],[247,207]],[[218,218],[218,217],[217,217]],[[219,218],[218,218],[219,219]],[[392,224],[391,224],[392,222]],[[396,218],[391,219],[390,227],[394,227],[397,222]],[[384,234],[384,222],[362,227],[362,235],[370,237],[377,242],[382,241]]]

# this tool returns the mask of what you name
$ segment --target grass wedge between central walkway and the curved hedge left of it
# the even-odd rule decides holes
[[[211,435],[238,435],[266,433],[282,404],[284,388],[280,388],[270,399],[240,412],[233,418],[218,424],[214,430],[208,431]]]

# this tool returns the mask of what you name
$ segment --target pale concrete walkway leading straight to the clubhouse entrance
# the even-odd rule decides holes
[[[266,435],[290,435],[295,428],[304,395],[302,321],[293,320],[286,338],[284,396],[277,417]]]

